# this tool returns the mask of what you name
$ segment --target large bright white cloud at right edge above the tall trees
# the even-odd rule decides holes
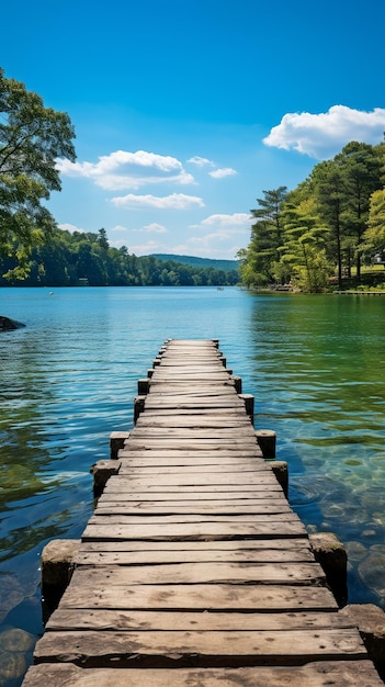
[[[316,159],[339,153],[350,140],[375,145],[383,138],[385,109],[373,112],[333,105],[328,112],[287,113],[263,138],[267,146],[297,150]]]

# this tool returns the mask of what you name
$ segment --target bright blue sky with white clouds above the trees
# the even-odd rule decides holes
[[[111,246],[234,259],[263,190],[385,131],[385,3],[19,0],[7,77],[69,113],[49,209]]]

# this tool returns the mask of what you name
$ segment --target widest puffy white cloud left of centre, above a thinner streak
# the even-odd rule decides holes
[[[193,176],[184,170],[180,160],[146,150],[115,150],[99,157],[98,162],[60,159],[56,166],[61,174],[90,179],[106,191],[137,190],[145,184],[161,182],[194,183]]]

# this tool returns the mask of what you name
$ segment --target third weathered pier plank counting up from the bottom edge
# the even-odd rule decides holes
[[[47,630],[177,630],[195,632],[321,630],[352,628],[338,612],[218,613],[147,610],[104,610],[58,608],[46,623]]]

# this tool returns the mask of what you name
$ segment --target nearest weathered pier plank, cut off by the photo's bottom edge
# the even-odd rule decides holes
[[[145,683],[144,683],[145,677]],[[32,666],[23,687],[381,687],[383,682],[370,661],[322,661],[302,666],[180,668],[127,671],[88,668],[73,664],[43,663]]]

